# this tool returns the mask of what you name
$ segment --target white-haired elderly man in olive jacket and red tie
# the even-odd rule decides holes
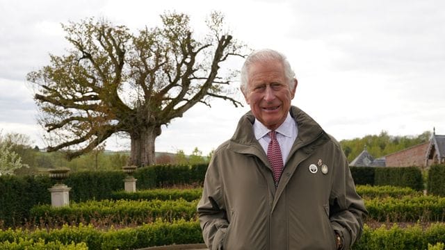
[[[339,142],[291,106],[297,80],[277,51],[241,69],[250,112],[216,149],[197,211],[209,249],[349,249],[366,208]]]

